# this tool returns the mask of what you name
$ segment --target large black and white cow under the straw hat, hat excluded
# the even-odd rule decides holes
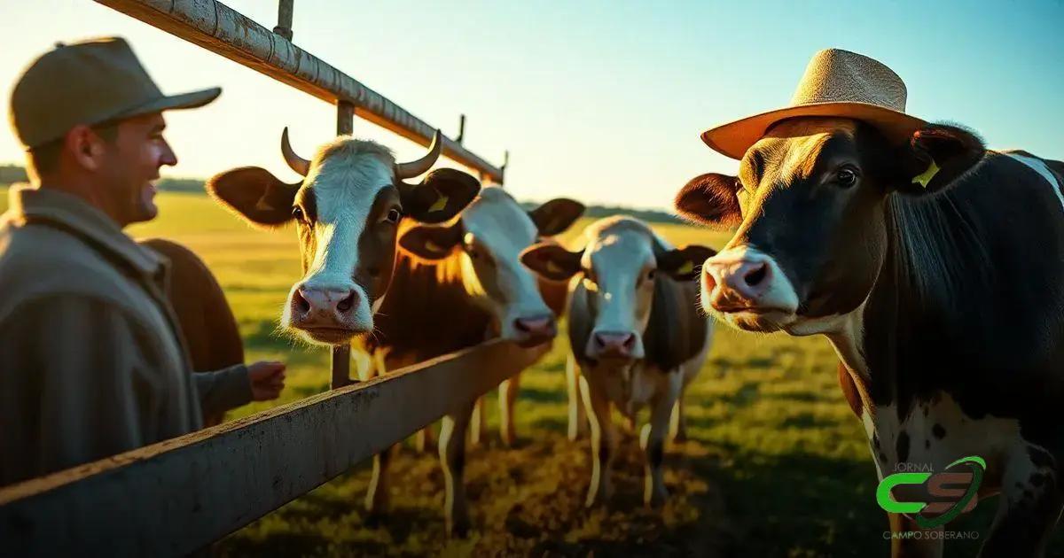
[[[948,124],[896,143],[794,118],[737,177],[688,182],[679,213],[737,226],[705,260],[702,305],[739,329],[826,336],[880,478],[979,456],[979,496],[1001,494],[983,555],[1041,554],[1064,504],[1064,164]],[[894,555],[941,555],[925,535]]]

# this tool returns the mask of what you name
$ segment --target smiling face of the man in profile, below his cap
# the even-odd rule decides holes
[[[178,163],[163,138],[166,121],[161,113],[137,116],[116,124],[117,135],[106,147],[102,175],[103,202],[121,226],[149,221],[159,214],[155,186],[159,169]]]

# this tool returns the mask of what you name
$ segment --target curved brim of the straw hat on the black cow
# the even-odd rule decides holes
[[[810,103],[761,113],[706,130],[702,132],[702,141],[705,141],[706,146],[721,155],[741,159],[746,150],[765,137],[772,124],[800,116],[861,120],[877,128],[887,139],[899,143],[908,141],[913,132],[927,125],[926,120],[876,104],[859,102]]]

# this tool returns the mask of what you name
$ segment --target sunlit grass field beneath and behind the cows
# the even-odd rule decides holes
[[[2,192],[2,191],[0,191]],[[0,197],[0,208],[6,195]],[[295,233],[248,229],[206,197],[160,195],[161,217],[131,229],[196,251],[217,274],[239,320],[249,360],[288,362],[288,403],[328,388],[327,352],[280,335],[279,309],[299,264]],[[582,229],[587,221],[578,225]],[[659,230],[676,243],[719,247],[726,238],[682,225]],[[576,232],[569,237],[576,236]],[[226,556],[302,555],[647,555],[885,556],[886,518],[875,502],[876,473],[862,428],[835,381],[835,355],[821,338],[745,335],[718,326],[713,351],[687,392],[691,441],[666,454],[671,501],[639,505],[642,462],[633,435],[621,442],[616,497],[584,510],[588,442],[565,439],[564,361],[551,353],[525,372],[517,404],[520,443],[497,441],[494,394],[485,445],[466,470],[470,538],[448,542],[443,475],[433,455],[408,445],[394,460],[390,521],[367,525],[364,463],[218,544]],[[254,404],[234,416],[268,407]],[[352,424],[352,428],[372,428]],[[624,429],[621,429],[624,432]],[[985,529],[995,502],[951,527]],[[947,556],[975,554],[947,543]]]

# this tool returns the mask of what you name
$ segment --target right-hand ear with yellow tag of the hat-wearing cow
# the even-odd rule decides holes
[[[976,166],[986,154],[982,138],[949,124],[928,124],[917,130],[901,148],[897,169],[898,190],[920,195],[948,186]]]

